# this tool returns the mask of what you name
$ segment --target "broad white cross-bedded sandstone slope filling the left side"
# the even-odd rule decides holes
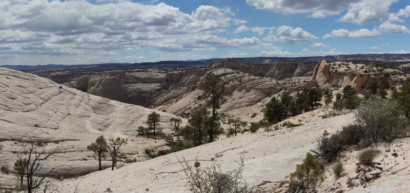
[[[146,160],[145,148],[166,148],[163,140],[134,137],[136,129],[145,126],[152,111],[58,85],[33,74],[0,68],[0,144],[4,145],[0,164],[8,164],[12,169],[22,155],[21,144],[31,137],[61,149],[57,161],[49,163],[50,167],[60,164],[72,167],[70,171],[59,171],[61,175],[84,175],[98,169],[94,153],[86,147],[101,135],[107,140],[128,139],[123,152],[129,158]],[[169,120],[175,116],[156,112],[161,115],[160,128],[169,132],[172,127]],[[109,163],[106,161],[104,165]],[[12,174],[2,175],[0,183],[13,185],[9,180],[14,178]]]

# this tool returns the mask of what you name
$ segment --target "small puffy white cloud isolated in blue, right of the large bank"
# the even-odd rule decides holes
[[[318,38],[300,27],[293,29],[290,26],[279,26],[276,29],[276,36],[278,41],[286,44],[300,44]]]

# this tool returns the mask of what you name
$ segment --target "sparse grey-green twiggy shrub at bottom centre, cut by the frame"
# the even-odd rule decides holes
[[[196,160],[198,161],[198,160]],[[202,169],[201,167],[193,168],[183,158],[179,161],[185,175],[187,176],[189,191],[193,193],[252,193],[260,192],[255,186],[250,186],[242,177],[243,155],[238,162],[239,167],[232,171],[222,172],[220,165],[213,163],[211,167]],[[183,164],[185,163],[185,164]]]

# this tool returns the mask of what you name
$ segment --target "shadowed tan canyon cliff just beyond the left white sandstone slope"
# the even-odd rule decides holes
[[[155,96],[181,79],[181,72],[124,70],[85,75],[72,86],[107,99],[149,106]]]

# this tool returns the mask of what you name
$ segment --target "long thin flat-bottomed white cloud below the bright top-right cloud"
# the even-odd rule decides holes
[[[333,30],[332,33],[328,33],[323,36],[323,38],[332,38],[332,37],[346,37],[346,38],[357,38],[357,37],[379,37],[381,33],[377,29],[373,29],[372,31],[368,29],[359,29],[359,30],[346,30],[346,29],[338,29]]]

